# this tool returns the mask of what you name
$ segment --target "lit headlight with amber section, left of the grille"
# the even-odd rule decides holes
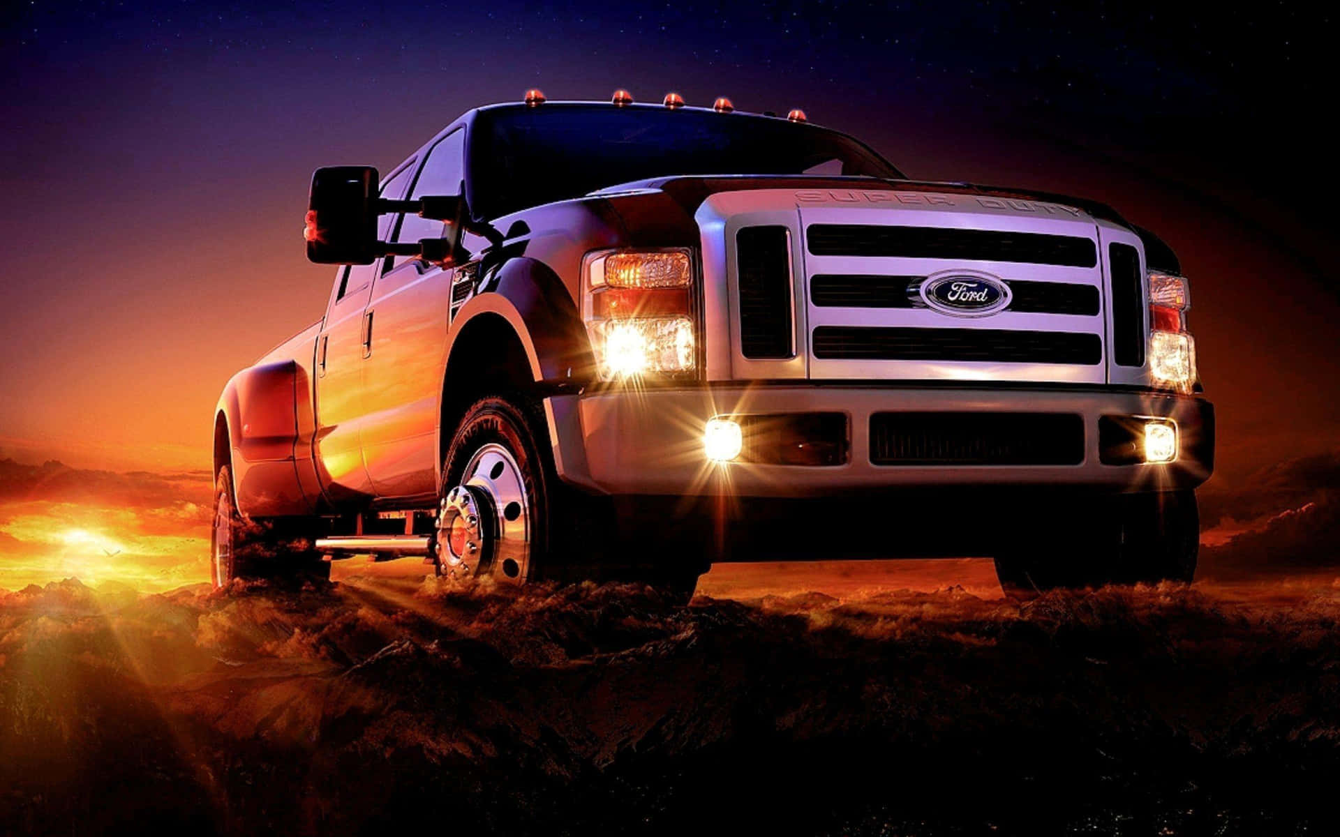
[[[602,379],[694,372],[689,250],[588,253],[582,285],[582,319]]]

